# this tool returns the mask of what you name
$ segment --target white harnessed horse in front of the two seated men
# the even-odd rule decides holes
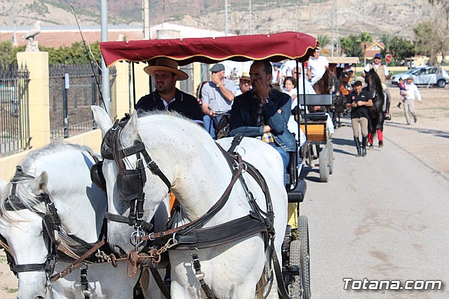
[[[95,121],[103,133],[111,128],[109,117],[100,107],[92,107]],[[145,144],[149,156],[158,164],[171,185],[182,206],[182,222],[196,220],[204,215],[225,192],[232,179],[232,171],[215,142],[208,133],[192,121],[169,112],[153,112],[138,119],[137,113],[128,121],[119,135],[122,148],[130,147],[135,140]],[[229,141],[227,141],[229,142]],[[264,142],[250,138],[243,139],[246,159],[264,176],[272,195],[274,210],[275,251],[281,259],[281,245],[287,222],[287,194],[283,186],[283,165],[276,150]],[[120,149],[115,149],[120,150]],[[267,159],[267,157],[269,157]],[[126,168],[135,168],[135,155],[124,159]],[[116,162],[105,160],[103,173],[107,182],[109,212],[128,215],[129,204],[117,189]],[[154,215],[159,204],[166,199],[166,183],[146,168],[144,219]],[[259,185],[245,173],[249,190],[257,204],[266,211],[264,194]],[[250,205],[241,183],[232,189],[225,206],[204,227],[213,227],[229,220],[248,215]],[[115,248],[129,252],[129,232],[122,232],[118,226],[109,226],[108,241]],[[231,243],[202,248],[196,251],[201,261],[204,281],[217,298],[255,298],[256,285],[260,281],[267,254],[262,234],[253,234]],[[170,250],[171,296],[172,298],[204,298],[199,280],[192,267],[191,251]],[[277,297],[276,287],[270,294]]]

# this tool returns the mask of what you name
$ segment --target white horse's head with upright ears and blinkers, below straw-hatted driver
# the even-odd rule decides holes
[[[113,127],[105,110],[97,106],[92,106],[92,110],[95,121],[105,135],[102,142],[102,155],[105,157],[102,162],[102,174],[105,178],[108,197],[107,214],[116,215],[116,217],[107,216],[109,217],[108,243],[115,251],[121,253],[121,255],[126,255],[131,250],[135,250],[136,247],[142,248],[145,245],[142,243],[140,246],[136,246],[135,242],[130,241],[130,236],[135,236],[135,234],[140,236],[142,230],[140,227],[138,228],[139,223],[128,224],[126,221],[123,223],[123,220],[133,217],[133,215],[130,215],[133,211],[140,213],[133,206],[135,204],[133,195],[138,194],[139,191],[145,192],[145,206],[144,211],[142,211],[144,215],[136,216],[145,219],[143,220],[144,224],[151,222],[154,217],[154,229],[163,230],[163,225],[168,220],[168,187],[159,177],[152,174],[148,167],[143,167],[139,173],[135,171],[136,167],[143,166],[146,163],[141,151],[128,155],[126,154],[127,151],[124,150],[133,148],[136,144],[144,147],[145,150],[145,145],[141,142],[138,132],[137,112],[126,120],[126,124],[123,123],[119,125],[120,127],[114,125]],[[107,154],[108,152],[109,154]],[[164,173],[173,177],[165,169]],[[122,221],[114,220],[117,217],[121,218]],[[145,230],[145,226],[142,227]]]

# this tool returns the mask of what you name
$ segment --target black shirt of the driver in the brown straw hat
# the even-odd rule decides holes
[[[166,110],[165,105],[163,105],[163,100],[157,91],[145,95],[138,103],[135,105],[135,109],[142,109],[145,111],[153,110]],[[175,111],[179,114],[192,119],[196,123],[203,124],[203,112],[201,111],[201,106],[199,105],[196,98],[192,95],[184,93],[176,88],[175,100],[172,100],[167,109],[169,111]]]

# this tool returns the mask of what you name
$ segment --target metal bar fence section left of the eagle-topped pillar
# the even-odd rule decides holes
[[[0,62],[0,157],[29,148],[29,72]]]

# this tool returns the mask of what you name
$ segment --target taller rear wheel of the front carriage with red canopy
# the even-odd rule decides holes
[[[302,298],[310,298],[310,251],[309,251],[309,220],[307,216],[300,215],[299,239],[301,243],[301,280],[303,293]]]

